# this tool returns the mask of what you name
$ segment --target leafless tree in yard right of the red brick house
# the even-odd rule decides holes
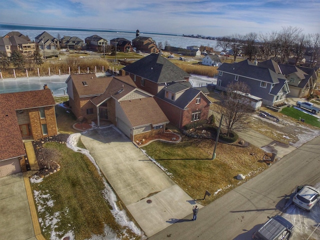
[[[242,130],[248,125],[252,106],[247,94],[250,92],[248,85],[241,81],[234,81],[227,85],[227,90],[221,92],[220,112],[223,112],[222,125],[229,136],[231,130]]]

